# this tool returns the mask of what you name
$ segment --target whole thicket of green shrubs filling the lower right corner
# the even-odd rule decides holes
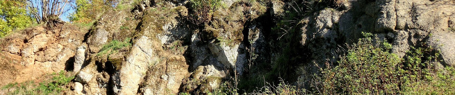
[[[431,47],[413,48],[404,59],[389,53],[392,46],[372,39],[370,33],[354,45],[338,65],[322,69],[313,87],[322,95],[453,95],[455,71],[435,71],[438,52]],[[374,42],[376,41],[376,42]],[[374,44],[379,43],[379,44]],[[424,43],[425,45],[425,43]]]

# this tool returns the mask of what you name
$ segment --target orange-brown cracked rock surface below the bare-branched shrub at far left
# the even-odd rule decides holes
[[[1,72],[0,85],[12,82],[35,80],[42,75],[61,70],[70,70],[76,47],[81,45],[86,32],[77,30],[75,26],[64,26],[49,30],[43,27],[32,27],[2,39],[0,56],[5,68],[12,70]],[[72,66],[70,66],[72,67]]]

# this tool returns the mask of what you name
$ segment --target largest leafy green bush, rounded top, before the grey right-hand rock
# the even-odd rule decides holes
[[[371,36],[370,33],[364,33]],[[398,94],[403,85],[404,70],[401,59],[389,53],[391,45],[370,37],[349,45],[348,54],[340,56],[338,66],[322,70],[322,94],[390,95]]]

